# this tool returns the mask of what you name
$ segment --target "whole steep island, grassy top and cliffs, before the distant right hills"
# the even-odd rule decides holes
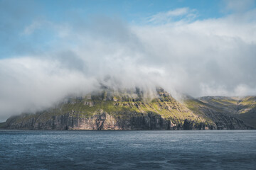
[[[146,97],[145,97],[146,96]],[[207,130],[248,129],[239,118],[194,98],[179,103],[164,89],[154,97],[135,91],[103,91],[66,98],[38,113],[23,113],[0,124],[33,130]]]

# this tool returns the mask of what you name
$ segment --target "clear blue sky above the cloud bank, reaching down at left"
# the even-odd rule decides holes
[[[255,7],[255,3],[250,8]],[[33,35],[24,35],[23,30],[37,20],[55,23],[72,23],[74,18],[87,21],[96,16],[119,18],[134,25],[146,23],[156,13],[190,8],[196,11],[196,20],[220,18],[228,15],[225,1],[219,0],[97,0],[97,1],[14,1],[0,0],[0,58],[26,55],[45,50],[55,36],[48,29],[38,30]],[[180,18],[177,18],[180,19]]]

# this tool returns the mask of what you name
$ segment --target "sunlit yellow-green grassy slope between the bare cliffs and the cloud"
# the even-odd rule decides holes
[[[114,118],[129,119],[129,116],[141,116],[147,113],[154,113],[161,115],[162,118],[171,120],[173,123],[183,123],[185,119],[193,120],[195,123],[212,123],[211,120],[203,118],[200,114],[194,114],[186,106],[178,103],[171,95],[165,91],[159,92],[159,98],[153,100],[144,100],[141,96],[129,96],[127,94],[119,94],[107,98],[107,93],[103,91],[102,94],[85,96],[84,98],[69,98],[68,101],[58,104],[46,111],[41,111],[36,114],[23,114],[15,117],[16,123],[31,118],[41,120],[48,120],[54,115],[63,115],[65,113],[73,113],[74,116],[82,115],[90,118],[92,115],[105,111]],[[9,121],[14,119],[9,119]]]

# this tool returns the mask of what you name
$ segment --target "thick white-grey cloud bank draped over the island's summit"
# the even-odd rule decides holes
[[[178,8],[139,25],[104,16],[29,23],[22,36],[47,30],[52,38],[40,52],[34,52],[40,44],[30,44],[26,55],[0,60],[0,120],[90,93],[100,83],[162,86],[174,96],[256,95],[256,9],[228,3],[235,12],[205,20],[196,19],[194,9]]]

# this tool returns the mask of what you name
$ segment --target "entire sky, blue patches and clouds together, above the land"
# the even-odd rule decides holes
[[[255,66],[255,0],[0,0],[0,122],[100,84],[256,95]]]

